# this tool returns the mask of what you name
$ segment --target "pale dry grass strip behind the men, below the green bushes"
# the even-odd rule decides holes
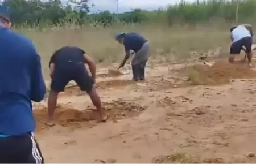
[[[111,27],[80,29],[55,29],[38,31],[35,29],[19,30],[30,37],[42,57],[43,72],[48,79],[48,62],[52,53],[65,45],[80,46],[92,55],[96,62],[109,64],[123,58],[123,47],[118,45],[113,34],[118,31],[138,32],[150,40],[151,54],[154,57],[164,55],[169,59],[186,59],[191,52],[202,54],[209,49],[221,46],[222,51],[228,51],[229,30],[213,27],[180,28],[180,27]]]

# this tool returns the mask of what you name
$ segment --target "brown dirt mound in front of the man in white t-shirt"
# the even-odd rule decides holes
[[[251,79],[256,72],[246,65],[216,62],[212,66],[194,65],[186,69],[188,82],[192,85],[217,85],[229,83],[230,79]]]

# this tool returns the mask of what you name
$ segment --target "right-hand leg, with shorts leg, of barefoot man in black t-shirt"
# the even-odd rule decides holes
[[[72,79],[77,83],[77,85],[79,85],[81,91],[88,93],[90,100],[101,115],[102,122],[106,122],[108,118],[105,113],[105,109],[101,106],[101,98],[93,85],[93,79],[83,68],[81,68],[81,70],[77,70],[74,74],[75,75]]]

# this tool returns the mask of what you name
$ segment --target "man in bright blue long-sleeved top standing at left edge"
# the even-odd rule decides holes
[[[46,92],[40,57],[32,42],[10,26],[9,18],[0,15],[0,163],[44,163],[31,105]]]

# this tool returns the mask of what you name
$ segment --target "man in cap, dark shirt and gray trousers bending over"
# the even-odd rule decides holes
[[[137,33],[117,33],[115,39],[125,46],[125,58],[119,68],[125,66],[125,63],[130,56],[130,50],[133,50],[135,52],[131,61],[133,80],[144,80],[145,67],[149,58],[148,40]]]

